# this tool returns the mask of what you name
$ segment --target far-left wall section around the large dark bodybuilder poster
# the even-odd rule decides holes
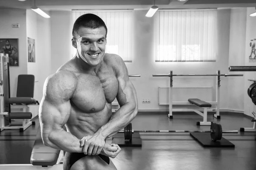
[[[18,38],[19,66],[10,66],[10,93],[16,97],[17,78],[19,74],[27,74],[27,45],[26,45],[26,10],[0,10],[0,38]],[[19,23],[20,28],[12,28]]]

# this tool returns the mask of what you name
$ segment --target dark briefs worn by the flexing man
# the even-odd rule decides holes
[[[63,170],[70,170],[70,168],[72,167],[72,165],[78,161],[79,159],[83,158],[84,153],[70,153],[70,152],[66,152],[64,159],[63,159]],[[110,159],[108,156],[105,155],[98,155],[103,161],[105,161],[107,164],[110,163]]]

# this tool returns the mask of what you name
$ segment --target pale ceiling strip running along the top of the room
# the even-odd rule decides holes
[[[72,9],[148,9],[152,5],[168,9],[255,7],[256,0],[0,0],[0,8],[29,9],[34,4],[43,10]]]

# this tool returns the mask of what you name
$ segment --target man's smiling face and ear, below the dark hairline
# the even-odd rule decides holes
[[[78,38],[72,39],[73,46],[77,49],[79,57],[91,66],[99,65],[105,54],[106,30],[104,27],[85,28],[77,31]]]

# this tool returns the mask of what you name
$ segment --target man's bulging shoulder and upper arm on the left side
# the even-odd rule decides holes
[[[71,112],[73,82],[70,77],[59,73],[47,78],[39,107],[39,120],[44,133],[61,129],[66,124]]]

